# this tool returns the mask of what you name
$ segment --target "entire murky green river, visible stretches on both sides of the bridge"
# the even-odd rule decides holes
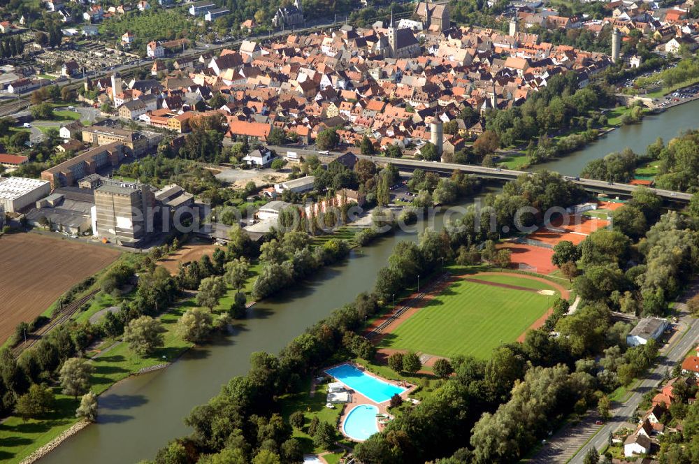
[[[699,101],[692,101],[647,116],[641,124],[623,126],[584,150],[535,168],[578,175],[592,159],[624,147],[642,153],[657,137],[667,143],[680,131],[696,129],[697,114]],[[435,217],[433,226],[441,228],[441,216]],[[424,222],[416,229],[422,227]],[[66,440],[41,463],[122,464],[153,458],[169,440],[189,434],[183,419],[193,407],[215,396],[231,377],[247,372],[250,354],[277,353],[336,307],[372,289],[378,270],[400,240],[417,240],[417,233],[398,232],[355,249],[344,263],[322,268],[304,284],[255,305],[231,334],[187,351],[165,370],[115,384],[99,397],[97,423]]]

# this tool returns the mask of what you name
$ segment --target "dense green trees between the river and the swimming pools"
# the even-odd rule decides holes
[[[317,446],[334,447],[334,424],[315,418],[306,427],[301,412],[291,414],[290,423],[270,412],[275,409],[275,398],[298,391],[301,379],[318,362],[338,353],[358,356],[355,351],[362,351],[362,346],[373,348],[354,331],[377,309],[373,296],[361,294],[353,304],[337,310],[292,340],[278,356],[252,354],[250,372],[231,379],[218,396],[196,407],[185,419],[194,428],[192,436],[174,440],[161,449],[156,462],[173,454],[188,462],[192,452],[199,462],[205,463],[300,462],[303,453],[300,443],[291,437],[291,424],[294,428],[305,428]],[[365,355],[373,356],[372,350]]]

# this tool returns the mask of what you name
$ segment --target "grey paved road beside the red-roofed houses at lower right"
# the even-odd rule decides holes
[[[612,420],[610,422],[602,426],[596,425],[595,421],[599,417],[596,415],[596,412],[590,412],[577,425],[563,427],[559,433],[556,433],[542,447],[541,451],[531,462],[537,464],[582,464],[585,455],[591,447],[600,450],[607,445],[610,433],[614,433],[621,427],[633,427],[633,424],[628,423],[628,420],[633,416],[633,413],[641,403],[644,393],[656,388],[662,381],[665,370],[672,370],[675,363],[682,359],[687,351],[694,347],[699,340],[699,319],[693,319],[689,314],[684,314],[682,316],[682,324],[686,324],[689,329],[681,333],[676,340],[672,340],[672,345],[663,347],[656,367],[633,390],[626,403],[612,410]]]

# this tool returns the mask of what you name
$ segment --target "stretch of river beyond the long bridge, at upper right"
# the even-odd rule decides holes
[[[698,129],[699,122],[696,118],[698,114],[699,100],[684,103],[684,105],[675,106],[664,113],[646,116],[640,124],[621,126],[582,150],[577,150],[577,152],[572,152],[548,163],[537,164],[532,168],[536,171],[548,169],[549,171],[558,171],[563,175],[579,175],[585,165],[593,159],[605,157],[612,152],[619,152],[626,147],[637,154],[644,154],[646,147],[654,143],[658,137],[663,138],[665,143],[668,143],[681,131]]]

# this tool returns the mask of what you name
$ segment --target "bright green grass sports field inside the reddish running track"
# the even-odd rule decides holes
[[[517,275],[473,275],[478,280],[535,290],[553,287]],[[513,342],[559,296],[461,280],[387,334],[380,348],[409,349],[436,356],[489,358],[501,342]]]

